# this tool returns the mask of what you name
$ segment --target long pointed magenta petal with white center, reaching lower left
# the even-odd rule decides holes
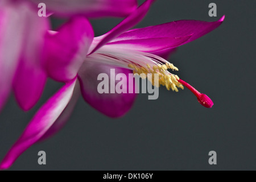
[[[46,104],[44,104],[32,121],[28,124],[18,141],[7,153],[0,169],[9,168],[15,160],[32,144],[37,142],[51,128],[56,119],[59,118],[73,95],[76,79],[64,85]]]

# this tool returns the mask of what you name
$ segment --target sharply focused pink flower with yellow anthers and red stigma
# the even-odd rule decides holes
[[[217,22],[180,20],[126,31],[146,15],[152,2],[144,2],[111,31],[97,38],[93,38],[92,27],[82,17],[71,19],[58,33],[47,36],[47,72],[55,80],[67,84],[36,113],[0,168],[9,168],[32,144],[59,131],[71,115],[80,93],[86,102],[109,117],[121,117],[127,113],[136,94],[97,92],[97,76],[99,73],[109,75],[110,68],[115,68],[115,73],[126,75],[131,72],[157,72],[162,79],[160,84],[167,89],[177,91],[184,85],[196,95],[200,104],[212,107],[209,97],[167,71],[167,68],[177,68],[163,57],[177,46],[200,38],[220,26],[224,16]]]

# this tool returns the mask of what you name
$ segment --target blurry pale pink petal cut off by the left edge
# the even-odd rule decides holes
[[[23,6],[9,3],[0,6],[0,110],[9,96],[22,51],[25,20],[26,8]]]

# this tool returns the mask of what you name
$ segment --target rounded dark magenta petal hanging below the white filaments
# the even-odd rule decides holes
[[[125,68],[112,67],[106,64],[97,64],[92,62],[85,62],[79,71],[79,81],[81,86],[81,93],[84,100],[88,102],[94,109],[109,117],[121,117],[131,109],[135,101],[136,94],[128,93],[128,86],[126,85],[127,93],[98,93],[97,86],[101,81],[97,80],[100,73],[106,73],[110,78],[110,69],[115,69],[115,75],[124,73],[127,78],[131,71]],[[112,79],[113,80],[113,79]],[[117,84],[119,81],[115,81]],[[127,81],[128,83],[128,81]],[[135,88],[135,85],[133,85]]]

